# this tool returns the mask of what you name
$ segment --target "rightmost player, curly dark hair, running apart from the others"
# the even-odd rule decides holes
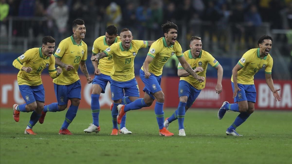
[[[273,59],[269,54],[272,48],[272,37],[268,35],[261,36],[258,39],[259,48],[248,50],[232,69],[231,86],[233,90],[234,104],[227,101],[223,102],[218,111],[218,118],[222,119],[226,111],[237,111],[240,114],[235,118],[234,123],[227,128],[226,135],[239,135],[235,129],[244,123],[246,119],[255,110],[256,88],[253,82],[253,76],[262,68],[265,68],[265,78],[267,85],[272,91],[275,100],[280,101],[278,93],[280,89],[274,88],[272,80]]]

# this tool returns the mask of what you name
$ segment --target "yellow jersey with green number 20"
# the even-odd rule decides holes
[[[73,35],[62,40],[55,52],[55,57],[58,57],[64,64],[72,65],[74,69],[71,71],[66,71],[62,68],[62,74],[59,78],[53,80],[53,83],[58,85],[69,85],[77,80],[79,76],[77,70],[79,69],[79,64],[87,59],[87,45],[81,40],[80,44],[73,39]]]

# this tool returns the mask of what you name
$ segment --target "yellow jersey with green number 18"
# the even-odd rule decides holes
[[[164,64],[174,54],[178,58],[183,56],[183,50],[180,46],[180,43],[178,43],[178,41],[175,41],[174,45],[168,47],[165,38],[159,38],[151,45],[150,50],[147,54],[154,58],[149,64],[149,72],[156,76],[160,76],[162,74]],[[141,67],[141,69],[143,70],[143,66]]]

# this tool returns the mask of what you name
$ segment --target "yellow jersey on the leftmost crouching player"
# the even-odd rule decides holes
[[[17,75],[18,85],[38,86],[41,81],[41,72],[48,67],[49,74],[52,78],[56,78],[55,57],[45,57],[41,52],[41,48],[32,48],[27,50],[20,57],[13,61],[13,66],[20,71]],[[22,71],[22,67],[31,67],[29,73]]]

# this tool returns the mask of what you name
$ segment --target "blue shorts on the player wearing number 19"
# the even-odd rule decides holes
[[[110,90],[112,92],[112,100],[114,101],[120,100],[124,96],[140,97],[139,86],[135,78],[129,81],[115,81],[111,79]]]

